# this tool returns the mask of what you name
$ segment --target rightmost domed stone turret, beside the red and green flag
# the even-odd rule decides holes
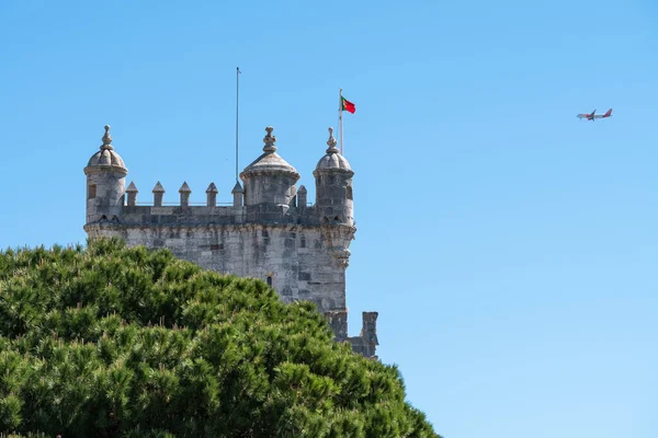
[[[318,161],[316,178],[316,211],[321,224],[354,223],[352,176],[350,163],[336,147],[333,128],[329,128],[327,154]]]

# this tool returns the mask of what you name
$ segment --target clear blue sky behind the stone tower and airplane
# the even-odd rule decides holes
[[[654,1],[2,0],[0,246],[84,241],[105,124],[139,200],[230,200],[236,66],[240,168],[273,125],[309,199],[356,104],[351,333],[436,431],[656,436]]]

